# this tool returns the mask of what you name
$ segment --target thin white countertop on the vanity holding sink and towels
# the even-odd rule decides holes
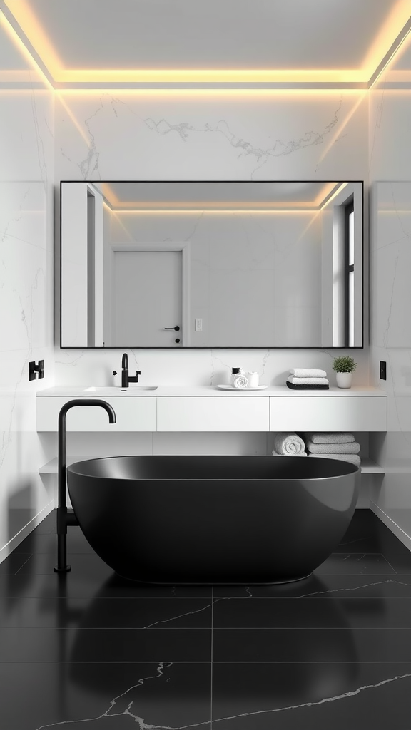
[[[238,396],[244,396],[245,398],[249,396],[321,396],[325,398],[328,396],[387,396],[386,391],[382,391],[380,388],[374,388],[371,385],[353,385],[352,388],[336,388],[330,386],[328,391],[295,391],[287,388],[287,385],[268,385],[267,388],[259,391],[229,391],[217,388],[216,385],[159,385],[154,391],[143,390],[144,387],[150,386],[145,386],[142,383],[140,389],[138,385],[129,385],[129,388],[120,388],[115,385],[96,385],[94,387],[87,385],[57,385],[54,388],[45,388],[43,391],[37,391],[37,396],[69,396],[70,398],[108,398],[113,396],[148,396],[149,398],[161,398],[162,396],[225,396],[226,398],[227,396],[234,398],[238,398]]]

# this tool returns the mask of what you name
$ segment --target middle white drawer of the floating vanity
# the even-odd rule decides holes
[[[268,398],[162,397],[157,431],[268,431]]]

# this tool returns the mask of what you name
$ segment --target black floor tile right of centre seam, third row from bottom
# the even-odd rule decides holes
[[[411,599],[214,599],[214,629],[411,629]]]

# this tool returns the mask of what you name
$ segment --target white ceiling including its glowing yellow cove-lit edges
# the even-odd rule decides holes
[[[0,9],[60,88],[133,87],[138,77],[121,72],[136,69],[157,70],[156,82],[173,69],[263,69],[282,87],[366,88],[411,28],[410,0],[0,0]],[[7,58],[20,68],[7,45],[0,37],[0,68]]]

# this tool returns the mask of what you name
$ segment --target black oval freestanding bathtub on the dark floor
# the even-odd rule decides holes
[[[67,468],[86,539],[143,583],[283,583],[338,545],[360,469],[301,456],[118,456]]]

